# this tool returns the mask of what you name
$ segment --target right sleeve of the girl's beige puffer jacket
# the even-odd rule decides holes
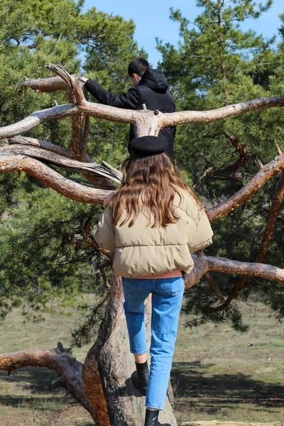
[[[187,246],[190,253],[205,249],[212,244],[212,236],[213,231],[204,210],[200,211],[196,221],[188,217]]]

